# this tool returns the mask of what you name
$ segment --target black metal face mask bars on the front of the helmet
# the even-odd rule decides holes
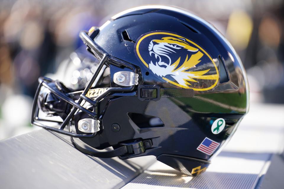
[[[91,80],[88,82],[87,86],[85,87],[85,89],[83,90],[83,92],[80,94],[80,97],[78,99],[77,102],[75,102],[75,100],[71,99],[68,94],[64,94],[63,92],[61,92],[59,89],[57,89],[57,87],[54,84],[54,81],[52,79],[46,78],[46,77],[40,77],[38,79],[39,85],[37,88],[37,91],[35,93],[35,98],[33,101],[33,110],[32,110],[32,117],[31,117],[31,123],[36,125],[36,126],[40,126],[43,127],[47,130],[50,131],[55,131],[57,133],[62,133],[71,137],[75,137],[75,138],[91,138],[94,137],[96,135],[96,133],[92,133],[92,134],[77,134],[77,133],[72,133],[71,129],[70,131],[64,131],[64,128],[66,127],[66,125],[68,123],[71,123],[71,119],[72,116],[76,113],[76,111],[79,109],[82,112],[90,115],[94,120],[97,120],[97,112],[96,111],[96,107],[98,105],[98,102],[108,96],[110,93],[112,92],[131,92],[135,89],[135,85],[132,85],[130,87],[110,87],[108,88],[105,92],[101,93],[98,97],[96,97],[96,99],[91,99],[89,97],[86,96],[87,92],[91,89],[92,86],[95,86],[95,80],[98,77],[101,69],[103,68],[104,65],[109,65],[112,64],[114,66],[117,67],[122,67],[125,66],[129,69],[131,69],[134,73],[137,74],[137,70],[135,68],[135,66],[133,66],[132,64],[122,61],[118,58],[115,58],[113,56],[110,56],[109,54],[107,54],[99,45],[97,45],[94,42],[94,38],[96,37],[96,35],[99,33],[99,29],[96,28],[92,33],[86,32],[86,31],[81,31],[80,32],[80,38],[83,40],[83,42],[85,43],[85,45],[87,45],[87,50],[89,52],[91,52],[96,58],[98,58],[100,60],[100,63],[98,65],[97,70],[95,71],[95,73],[93,74]],[[97,81],[96,81],[97,82]],[[63,122],[61,121],[54,121],[54,120],[45,120],[45,119],[39,119],[38,118],[38,114],[39,114],[39,107],[37,104],[38,101],[38,95],[41,91],[42,87],[46,87],[47,89],[50,90],[51,93],[55,94],[59,99],[64,100],[65,102],[67,102],[68,104],[70,104],[72,106],[71,112],[67,115],[67,117],[64,119]],[[93,107],[93,111],[90,111],[89,109],[86,109],[85,107],[83,107],[81,104],[81,102],[85,100],[86,102],[90,103]],[[51,127],[51,126],[46,126],[42,123],[40,123],[39,121],[51,121],[51,122],[55,122],[58,123],[60,125],[59,128],[55,128],[55,127]],[[70,126],[71,128],[71,126]]]

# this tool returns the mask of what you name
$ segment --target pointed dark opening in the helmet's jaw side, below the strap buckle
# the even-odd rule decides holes
[[[164,123],[158,117],[146,115],[142,113],[128,113],[129,118],[139,128],[152,128],[152,127],[164,127]]]

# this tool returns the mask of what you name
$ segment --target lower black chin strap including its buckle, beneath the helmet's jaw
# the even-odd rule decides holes
[[[95,151],[95,150],[88,150],[80,146],[78,143],[76,143],[73,139],[73,137],[70,137],[71,142],[73,146],[79,150],[80,152],[93,156],[93,157],[99,157],[99,158],[111,158],[111,157],[117,157],[117,156],[124,156],[124,157],[131,157],[138,154],[142,154],[145,152],[145,149],[152,147],[152,141],[151,140],[135,140],[133,142],[129,143],[122,143],[120,144],[121,147],[111,150],[111,151]]]

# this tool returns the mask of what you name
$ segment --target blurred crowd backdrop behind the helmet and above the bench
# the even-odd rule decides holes
[[[80,30],[142,4],[179,6],[211,22],[241,57],[251,101],[284,103],[284,1],[1,0],[0,139],[38,129],[30,115],[39,76],[72,87],[88,81],[96,60],[85,55]]]

